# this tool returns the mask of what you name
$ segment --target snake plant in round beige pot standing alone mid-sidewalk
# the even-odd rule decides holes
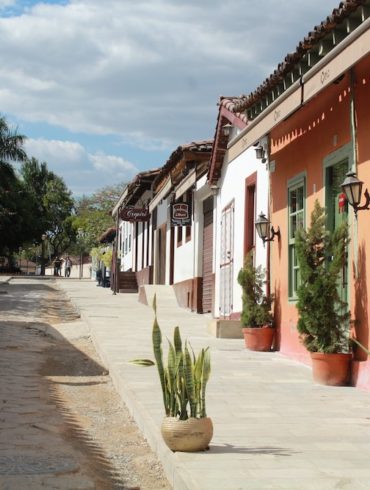
[[[188,342],[183,345],[180,329],[175,327],[173,342],[167,339],[168,356],[165,365],[155,296],[153,309],[153,351],[165,409],[161,427],[163,439],[172,451],[204,451],[208,449],[213,436],[212,420],[206,413],[206,386],[211,373],[209,347],[195,355]],[[132,362],[154,364],[148,359]]]

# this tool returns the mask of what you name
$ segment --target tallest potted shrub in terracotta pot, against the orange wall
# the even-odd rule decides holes
[[[338,291],[349,238],[346,222],[332,233],[325,222],[325,209],[316,200],[310,228],[296,232],[300,272],[297,329],[311,354],[314,380],[337,386],[347,384],[352,357],[350,312]]]

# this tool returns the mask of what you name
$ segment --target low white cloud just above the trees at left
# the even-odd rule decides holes
[[[106,185],[129,182],[139,171],[122,157],[89,153],[73,141],[27,139],[25,150],[29,157],[45,161],[49,170],[63,177],[74,194],[90,194]]]

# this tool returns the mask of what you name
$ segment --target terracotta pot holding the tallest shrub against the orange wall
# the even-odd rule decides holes
[[[316,383],[345,386],[349,382],[352,354],[311,352],[312,376]]]

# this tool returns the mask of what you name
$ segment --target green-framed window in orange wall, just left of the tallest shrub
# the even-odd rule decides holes
[[[295,234],[298,228],[305,226],[305,180],[295,180],[288,188],[289,213],[289,298],[296,299],[300,275],[297,255],[295,251]]]

